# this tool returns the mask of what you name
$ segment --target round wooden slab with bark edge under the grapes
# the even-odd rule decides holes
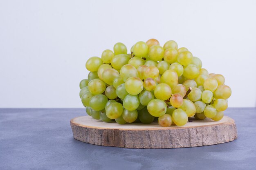
[[[237,138],[236,124],[230,117],[220,121],[195,120],[186,125],[161,127],[132,123],[106,123],[90,116],[71,119],[74,138],[85,143],[122,148],[186,148],[222,144]]]

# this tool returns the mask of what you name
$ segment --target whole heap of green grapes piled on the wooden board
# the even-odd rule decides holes
[[[118,124],[158,120],[163,127],[183,126],[189,117],[222,119],[231,88],[188,49],[150,39],[130,51],[118,42],[114,52],[86,62],[90,73],[80,82],[80,97],[88,115]]]

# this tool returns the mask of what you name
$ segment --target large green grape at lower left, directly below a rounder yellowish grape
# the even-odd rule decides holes
[[[99,111],[105,108],[107,102],[108,98],[105,95],[95,95],[90,99],[89,106],[93,110]]]

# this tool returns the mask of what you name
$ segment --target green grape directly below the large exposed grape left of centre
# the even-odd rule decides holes
[[[139,107],[139,97],[137,95],[127,95],[123,101],[124,108],[132,111]]]

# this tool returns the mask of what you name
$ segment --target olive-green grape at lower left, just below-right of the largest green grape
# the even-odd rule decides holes
[[[108,107],[106,107],[106,115],[110,119],[116,119],[122,115],[123,109],[124,108],[121,103],[113,102]]]

